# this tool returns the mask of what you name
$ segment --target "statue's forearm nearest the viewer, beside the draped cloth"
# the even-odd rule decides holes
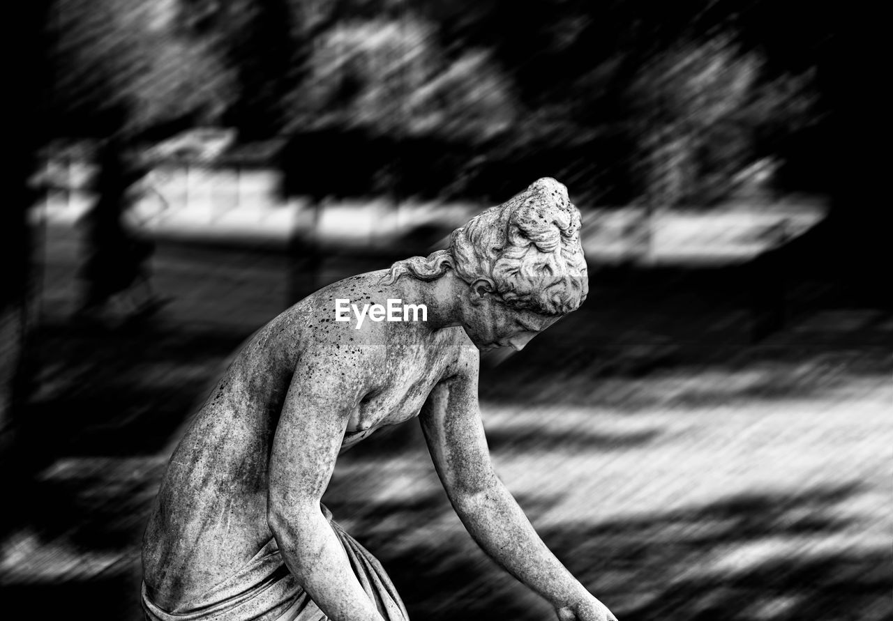
[[[332,621],[383,621],[350,567],[338,536],[319,511],[271,518],[282,558]]]

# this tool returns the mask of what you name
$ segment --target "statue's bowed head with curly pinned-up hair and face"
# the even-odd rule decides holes
[[[434,280],[452,269],[464,285],[465,332],[482,350],[521,349],[586,300],[580,212],[567,188],[541,178],[457,228],[448,250],[398,261],[388,279]]]

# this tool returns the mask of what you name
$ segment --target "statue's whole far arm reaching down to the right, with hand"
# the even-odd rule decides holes
[[[548,600],[562,621],[614,619],[542,542],[490,461],[478,407],[478,352],[438,384],[420,420],[447,496],[488,555]]]

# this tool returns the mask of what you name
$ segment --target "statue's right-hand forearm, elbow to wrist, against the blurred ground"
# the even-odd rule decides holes
[[[555,608],[588,597],[586,589],[555,558],[505,485],[454,498],[456,513],[488,555]]]

